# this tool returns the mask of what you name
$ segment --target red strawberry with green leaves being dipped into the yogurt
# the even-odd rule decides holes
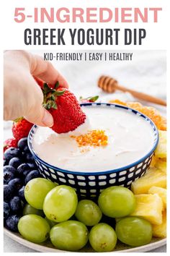
[[[54,124],[51,128],[55,132],[70,132],[84,123],[86,114],[81,110],[75,95],[68,89],[58,88],[58,86],[58,82],[53,89],[47,83],[44,84],[43,106],[53,116]]]

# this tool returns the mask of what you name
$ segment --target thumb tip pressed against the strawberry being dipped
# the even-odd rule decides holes
[[[32,124],[37,124],[41,127],[53,126],[53,116],[42,106],[35,106],[24,118]]]

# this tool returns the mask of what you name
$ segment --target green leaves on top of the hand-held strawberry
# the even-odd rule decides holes
[[[63,95],[65,90],[56,90],[59,87],[59,82],[55,83],[54,88],[50,88],[49,85],[45,82],[42,88],[42,93],[44,95],[44,101],[42,106],[47,110],[50,108],[57,109],[56,98]]]

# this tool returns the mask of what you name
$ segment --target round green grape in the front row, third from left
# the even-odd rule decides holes
[[[112,226],[98,223],[89,233],[91,247],[97,252],[111,252],[117,243],[117,235]]]

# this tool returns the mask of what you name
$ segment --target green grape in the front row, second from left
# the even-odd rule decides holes
[[[58,249],[76,251],[84,247],[88,241],[89,232],[84,223],[79,221],[64,221],[56,224],[50,230],[50,240]]]

